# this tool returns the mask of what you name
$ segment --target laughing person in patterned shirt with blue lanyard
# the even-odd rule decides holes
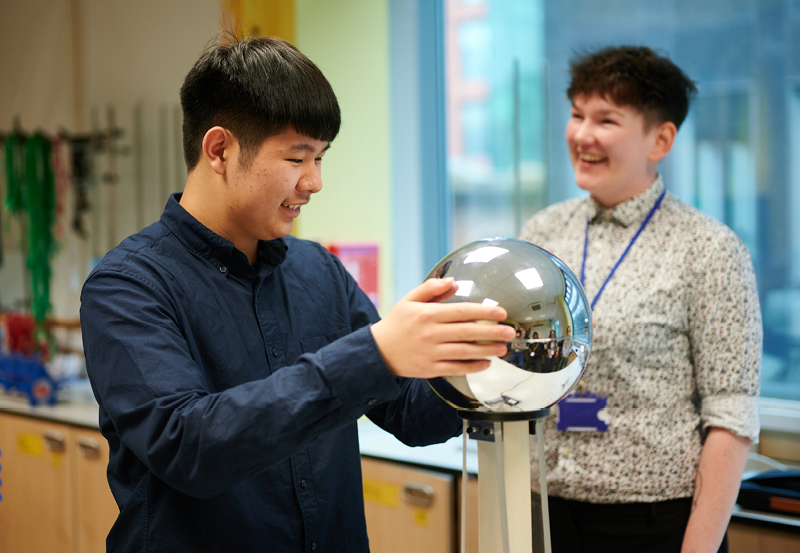
[[[521,237],[581,275],[597,320],[583,389],[607,398],[608,431],[545,423],[553,551],[726,550],[758,439],[761,314],[745,246],[658,174],[695,86],[644,47],[600,50],[571,73],[566,139],[589,197],[545,209]]]

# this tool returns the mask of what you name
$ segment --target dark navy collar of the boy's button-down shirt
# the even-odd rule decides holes
[[[210,230],[195,219],[180,204],[181,193],[172,194],[161,214],[161,221],[192,252],[210,261],[222,272],[226,272],[241,259],[247,263],[244,253],[237,250],[233,242]],[[289,249],[283,238],[260,240],[258,242],[258,261],[270,267],[277,267],[286,259]],[[248,263],[249,265],[249,263]]]

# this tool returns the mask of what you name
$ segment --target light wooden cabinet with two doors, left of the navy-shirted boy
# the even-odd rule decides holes
[[[0,551],[105,551],[118,513],[95,430],[0,414]]]

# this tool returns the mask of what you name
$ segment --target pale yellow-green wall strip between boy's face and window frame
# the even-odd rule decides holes
[[[330,80],[342,130],[322,164],[323,190],[303,208],[302,238],[380,246],[381,312],[391,267],[388,0],[296,0],[297,47]]]

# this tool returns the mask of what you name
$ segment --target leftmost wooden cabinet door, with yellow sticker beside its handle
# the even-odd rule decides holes
[[[70,428],[0,415],[0,551],[74,549]]]

